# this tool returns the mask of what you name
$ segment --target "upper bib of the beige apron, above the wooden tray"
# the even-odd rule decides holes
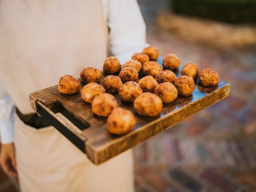
[[[23,114],[33,112],[25,102],[31,92],[58,84],[65,74],[79,77],[86,66],[102,69],[107,24],[100,0],[3,0],[0,5],[1,80]]]

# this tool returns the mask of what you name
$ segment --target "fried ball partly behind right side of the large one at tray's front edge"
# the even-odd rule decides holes
[[[157,94],[163,103],[170,103],[178,97],[178,90],[172,83],[165,82],[156,87],[154,94]]]

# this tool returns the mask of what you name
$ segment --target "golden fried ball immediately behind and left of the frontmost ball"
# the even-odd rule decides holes
[[[96,96],[92,101],[92,112],[98,116],[107,117],[117,106],[114,96],[104,93]]]

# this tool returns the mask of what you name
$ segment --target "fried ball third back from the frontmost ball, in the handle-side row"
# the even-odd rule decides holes
[[[88,83],[82,89],[82,99],[88,103],[91,103],[94,98],[100,94],[104,94],[105,89],[98,83]]]

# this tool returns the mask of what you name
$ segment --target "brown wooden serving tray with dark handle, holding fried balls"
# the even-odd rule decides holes
[[[162,64],[162,58],[158,62]],[[181,69],[182,66],[176,72],[177,76],[180,76]],[[102,78],[105,76],[107,74],[103,74]],[[85,84],[80,82],[82,88]],[[80,92],[74,95],[61,94],[56,85],[31,93],[30,104],[98,165],[225,98],[229,90],[230,84],[221,80],[214,87],[201,86],[196,80],[191,96],[178,96],[173,102],[163,104],[161,113],[156,117],[136,114],[133,103],[123,102],[118,93],[114,94],[118,106],[130,110],[136,118],[134,130],[123,136],[107,132],[107,118],[94,115],[91,104],[82,100]],[[61,113],[75,126],[56,113]]]

